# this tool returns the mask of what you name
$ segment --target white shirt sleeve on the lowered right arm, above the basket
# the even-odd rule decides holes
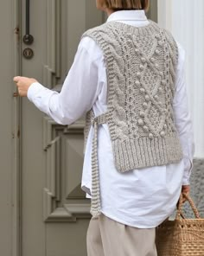
[[[182,185],[189,184],[189,178],[193,169],[194,157],[194,132],[190,112],[188,110],[187,86],[185,81],[185,51],[177,42],[179,58],[175,80],[175,98],[173,101],[175,113],[175,126],[182,143],[184,154],[184,175]]]

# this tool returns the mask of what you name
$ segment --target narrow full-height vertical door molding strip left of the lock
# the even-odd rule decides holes
[[[13,10],[12,25],[14,35],[14,74],[22,73],[21,68],[21,0],[11,0],[11,7]],[[17,97],[16,85],[13,86],[13,134],[12,134],[12,238],[11,238],[11,255],[21,256],[22,253],[22,230],[21,230],[21,99]]]

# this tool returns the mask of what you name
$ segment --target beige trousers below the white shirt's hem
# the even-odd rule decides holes
[[[88,256],[156,256],[155,228],[129,227],[100,214],[87,230]]]

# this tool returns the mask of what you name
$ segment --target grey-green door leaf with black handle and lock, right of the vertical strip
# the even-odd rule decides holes
[[[22,35],[24,12],[22,3]],[[101,22],[93,0],[30,1],[35,55],[22,57],[22,75],[60,91],[80,36]],[[86,255],[91,215],[80,189],[83,128],[83,120],[58,125],[22,99],[22,256]]]

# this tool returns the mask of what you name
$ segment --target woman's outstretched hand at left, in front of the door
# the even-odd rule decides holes
[[[19,95],[21,97],[26,97],[29,90],[29,86],[37,82],[37,80],[23,76],[16,76],[14,77],[14,82],[16,82],[16,86],[18,87]]]

